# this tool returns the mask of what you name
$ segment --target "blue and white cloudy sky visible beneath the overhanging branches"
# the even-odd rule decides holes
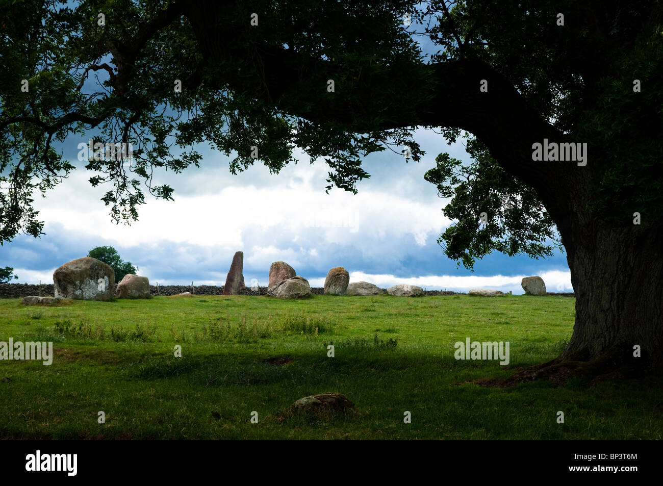
[[[233,254],[243,251],[247,285],[265,286],[269,266],[282,260],[312,286],[323,286],[329,269],[340,266],[351,282],[383,288],[410,283],[428,290],[489,287],[520,294],[523,276],[540,275],[550,292],[572,290],[561,253],[546,260],[493,254],[477,261],[473,273],[444,256],[437,238],[452,221],[442,213],[446,200],[424,173],[440,152],[465,162],[469,156],[460,142],[449,146],[432,131],[417,132],[426,151],[421,162],[406,164],[391,151],[368,156],[364,166],[371,178],[359,182],[356,195],[338,188],[326,194],[326,164],[308,164],[301,152],[295,154],[301,162],[278,175],[254,166],[233,176],[229,157],[198,147],[204,155],[200,168],[155,177],[155,185],[175,189],[175,201],[147,194],[139,221],[131,226],[111,222],[99,200],[108,186],[92,188],[93,174],[77,160],[78,143],[88,138],[62,146],[78,169],[46,199],[35,198],[46,235],[21,235],[0,247],[0,267],[14,267],[17,282],[52,282],[63,263],[109,245],[159,284],[223,284]]]

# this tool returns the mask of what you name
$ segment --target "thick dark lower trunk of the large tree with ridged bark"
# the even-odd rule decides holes
[[[657,228],[587,225],[568,255],[575,327],[562,361],[591,373],[660,373],[663,360],[663,249]],[[634,347],[640,348],[640,357]],[[591,363],[591,364],[590,364]]]

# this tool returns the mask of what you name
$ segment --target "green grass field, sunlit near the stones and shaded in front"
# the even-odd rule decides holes
[[[556,357],[574,306],[555,296],[3,299],[0,341],[53,341],[54,359],[0,361],[0,438],[660,439],[660,381],[468,383]],[[509,341],[511,362],[454,359],[466,337]],[[283,419],[294,400],[326,391],[354,411]]]

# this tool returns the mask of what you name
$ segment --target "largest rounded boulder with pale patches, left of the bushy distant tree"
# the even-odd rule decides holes
[[[55,296],[76,300],[110,300],[115,287],[115,271],[92,257],[65,263],[53,273]]]

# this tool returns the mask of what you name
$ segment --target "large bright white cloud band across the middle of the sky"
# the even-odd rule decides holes
[[[99,235],[122,247],[171,241],[239,249],[249,243],[244,235],[250,229],[261,231],[267,241],[271,235],[290,235],[290,241],[297,241],[302,231],[314,229],[322,243],[339,245],[410,234],[414,243],[424,246],[428,235],[450,223],[438,199],[424,204],[383,190],[325,194],[320,190],[325,171],[324,166],[297,166],[286,178],[274,178],[270,187],[228,186],[217,194],[176,196],[174,203],[147,198],[139,208],[139,221],[130,226],[110,221],[97,191],[87,187],[89,174],[82,170],[35,206],[41,217],[58,221],[66,231]],[[72,191],[72,186],[80,190]]]

